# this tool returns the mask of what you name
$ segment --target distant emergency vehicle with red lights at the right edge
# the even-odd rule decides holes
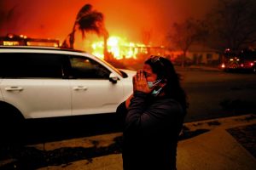
[[[221,68],[224,71],[253,71],[256,73],[256,51],[244,49],[239,52],[226,50]]]

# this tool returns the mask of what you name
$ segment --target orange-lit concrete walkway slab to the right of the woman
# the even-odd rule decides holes
[[[177,169],[253,170],[256,159],[224,129],[178,144]]]

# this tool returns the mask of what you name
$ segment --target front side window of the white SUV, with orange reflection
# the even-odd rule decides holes
[[[108,79],[110,71],[93,59],[71,57],[72,74],[75,78]]]

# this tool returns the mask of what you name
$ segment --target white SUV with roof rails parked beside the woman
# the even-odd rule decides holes
[[[0,47],[0,120],[113,113],[135,71],[61,48]]]

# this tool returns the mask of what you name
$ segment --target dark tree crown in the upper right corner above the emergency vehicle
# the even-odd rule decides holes
[[[207,14],[208,46],[223,52],[239,50],[256,42],[256,3],[254,0],[219,0]]]

